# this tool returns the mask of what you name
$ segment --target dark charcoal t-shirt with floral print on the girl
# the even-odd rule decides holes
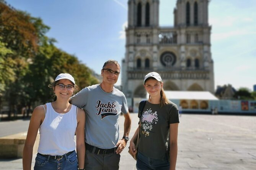
[[[140,123],[139,151],[153,159],[164,159],[170,145],[170,124],[179,123],[178,107],[171,101],[163,107],[147,101]]]

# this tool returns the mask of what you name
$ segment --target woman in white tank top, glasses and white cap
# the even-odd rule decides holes
[[[68,102],[76,89],[75,80],[72,75],[62,73],[49,87],[56,100],[37,106],[33,111],[23,150],[23,170],[31,170],[38,129],[40,141],[34,170],[83,169],[85,112]]]

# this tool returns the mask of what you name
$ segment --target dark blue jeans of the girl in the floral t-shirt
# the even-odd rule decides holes
[[[136,168],[137,170],[169,170],[170,162],[168,161],[167,155],[165,159],[159,160],[144,156],[138,152]]]

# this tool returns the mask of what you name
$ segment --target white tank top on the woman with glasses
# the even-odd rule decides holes
[[[72,104],[70,111],[65,114],[55,112],[51,103],[46,103],[46,107],[46,115],[39,128],[38,152],[56,156],[75,150],[77,106]]]

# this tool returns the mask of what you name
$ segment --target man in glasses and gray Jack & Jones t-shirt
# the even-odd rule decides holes
[[[118,170],[120,153],[129,140],[131,126],[124,94],[114,87],[120,74],[117,61],[108,60],[103,65],[103,81],[83,88],[70,99],[70,103],[86,112],[85,169]],[[124,135],[119,138],[119,115],[124,113]]]

